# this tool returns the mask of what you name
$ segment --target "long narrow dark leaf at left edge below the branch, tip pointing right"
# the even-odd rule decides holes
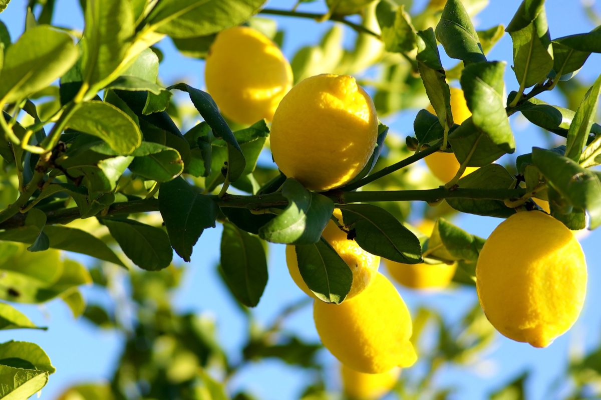
[[[78,252],[90,255],[99,260],[109,261],[124,266],[117,255],[97,237],[81,229],[69,228],[61,225],[48,225],[44,227],[44,233],[50,240],[50,247],[66,251]],[[32,243],[37,235],[37,229],[31,226],[0,231],[0,240],[11,240],[13,242]],[[44,253],[45,254],[45,253]]]

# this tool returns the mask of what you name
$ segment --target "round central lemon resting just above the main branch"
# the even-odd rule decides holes
[[[373,101],[352,76],[322,74],[298,83],[273,116],[273,160],[289,178],[314,191],[340,187],[373,153]]]

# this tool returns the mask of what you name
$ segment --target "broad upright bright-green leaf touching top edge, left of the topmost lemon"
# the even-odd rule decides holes
[[[81,41],[82,76],[90,86],[89,98],[114,80],[130,42],[134,37],[135,22],[132,5],[121,0],[87,0],[85,28]]]

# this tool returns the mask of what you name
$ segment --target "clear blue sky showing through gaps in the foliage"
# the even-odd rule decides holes
[[[81,29],[82,16],[77,1],[58,0],[56,3],[57,12],[54,23]],[[290,9],[293,4],[293,0],[271,0],[267,6]],[[419,10],[423,4],[423,0],[415,1],[414,7]],[[477,28],[490,28],[499,23],[506,26],[519,4],[520,1],[517,0],[490,0],[489,7],[475,19]],[[23,29],[24,7],[24,0],[13,0],[7,10],[0,14],[0,20],[8,25],[13,40]],[[594,27],[577,1],[549,1],[546,8],[553,38],[586,32]],[[317,1],[302,5],[300,10],[322,12],[325,10],[325,6],[322,1]],[[329,22],[318,24],[312,20],[289,17],[276,17],[275,20],[279,27],[286,31],[283,50],[288,59],[291,59],[300,47],[316,43],[323,32],[331,26]],[[347,30],[346,34],[347,40],[352,40],[353,32]],[[160,78],[163,82],[171,84],[186,79],[193,86],[204,87],[203,62],[179,55],[169,40],[160,43],[159,47],[166,55],[165,62],[160,67]],[[511,39],[507,34],[490,52],[489,59],[511,59]],[[599,55],[591,56],[579,76],[587,82],[592,82],[599,73],[599,61]],[[446,67],[455,64],[450,59],[445,59],[444,62]],[[509,67],[505,83],[507,91],[517,89],[517,82]],[[543,99],[554,104],[561,105],[563,103],[561,98],[555,94],[545,94]],[[416,110],[407,110],[394,118],[385,119],[384,122],[390,125],[392,132],[405,136],[412,133],[415,113]],[[511,123],[517,141],[516,154],[529,152],[533,145],[544,143],[540,131],[528,127],[523,123],[523,119],[520,119],[520,116],[513,116]],[[508,159],[511,157],[504,158],[505,161]],[[487,237],[500,220],[462,215],[455,222],[470,233]],[[225,291],[216,272],[220,238],[221,228],[219,227],[204,231],[195,246],[195,254],[192,256],[192,262],[188,264],[187,276],[183,281],[183,287],[175,296],[175,303],[177,308],[182,311],[213,315],[225,348],[231,357],[236,359],[246,327],[239,309]],[[588,260],[588,287],[590,290],[581,318],[569,333],[558,338],[551,347],[546,349],[535,349],[498,335],[491,351],[486,354],[486,363],[468,369],[445,369],[436,382],[441,385],[454,384],[458,386],[460,392],[457,394],[457,399],[478,399],[483,398],[485,393],[501,386],[505,381],[529,370],[533,373],[528,382],[528,393],[531,395],[529,398],[537,400],[549,398],[545,390],[563,371],[570,348],[582,345],[585,348],[591,348],[599,339],[597,332],[601,325],[601,309],[596,305],[601,300],[601,294],[594,290],[596,282],[601,281],[601,273],[597,269],[601,252],[599,246],[595,245],[595,243],[599,243],[599,239],[600,233],[596,231],[582,240]],[[413,312],[420,305],[431,306],[441,311],[447,321],[460,318],[476,300],[475,291],[466,288],[433,294],[423,294],[403,287],[398,287],[398,289]],[[84,288],[84,295],[91,300],[106,300],[104,294],[94,288]],[[260,323],[268,324],[285,305],[301,299],[302,296],[304,294],[294,286],[288,276],[284,260],[284,246],[270,246],[269,283],[260,304],[253,311],[255,317]],[[122,345],[122,338],[119,334],[97,330],[90,324],[73,320],[70,311],[58,301],[43,306],[21,306],[20,308],[35,323],[48,326],[49,330],[46,332],[26,330],[0,332],[0,341],[9,339],[33,341],[47,351],[57,372],[50,377],[49,384],[43,389],[42,399],[56,398],[56,395],[64,387],[77,381],[99,380],[110,376]],[[310,307],[294,314],[285,327],[299,333],[303,338],[317,340]],[[333,369],[329,372],[332,381],[337,380],[334,369],[335,360],[326,351],[323,351],[321,356],[325,362],[332,365]],[[234,378],[232,387],[234,390],[246,387],[261,399],[293,399],[296,398],[307,379],[299,369],[283,366],[277,361],[267,361],[243,369],[239,376]]]

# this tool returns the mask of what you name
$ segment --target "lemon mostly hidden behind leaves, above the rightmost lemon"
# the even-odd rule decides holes
[[[455,124],[461,125],[463,121],[472,116],[468,109],[468,103],[465,101],[463,91],[457,88],[451,89],[451,112],[453,113],[453,121]],[[428,106],[427,110],[435,113],[432,105]],[[436,152],[424,158],[430,171],[436,178],[442,182],[448,182],[455,177],[459,171],[459,161],[453,153]],[[467,167],[463,176],[477,170],[477,167]]]

